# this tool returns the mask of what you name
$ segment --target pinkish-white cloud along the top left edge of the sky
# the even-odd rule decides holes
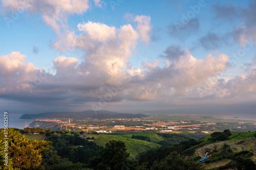
[[[101,7],[100,0],[94,0],[96,7]],[[2,1],[3,11],[15,11],[18,7],[24,8],[31,14],[41,14],[47,25],[60,35],[61,29],[68,27],[67,18],[73,14],[82,14],[89,9],[89,0],[60,0],[60,1]]]

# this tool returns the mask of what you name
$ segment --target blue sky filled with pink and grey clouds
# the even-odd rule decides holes
[[[0,3],[2,111],[255,114],[256,1]]]

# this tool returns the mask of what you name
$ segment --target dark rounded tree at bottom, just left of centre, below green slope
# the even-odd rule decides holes
[[[111,140],[106,143],[99,157],[90,160],[90,166],[98,170],[119,170],[127,164],[129,155],[124,142]]]

